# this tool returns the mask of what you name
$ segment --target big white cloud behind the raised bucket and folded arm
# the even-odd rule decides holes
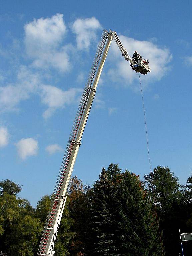
[[[160,80],[166,72],[170,69],[169,63],[171,61],[172,55],[169,49],[160,48],[153,42],[149,41],[139,41],[134,38],[119,36],[122,44],[128,49],[130,56],[134,51],[139,52],[144,59],[149,60],[151,72],[147,75],[142,75],[142,80],[146,83],[153,82],[155,80]],[[131,86],[133,89],[135,85],[133,82],[138,80],[139,75],[131,69],[129,62],[121,56],[120,50],[118,49],[115,42],[111,44],[112,54],[109,53],[110,59],[114,60],[115,67],[112,67],[108,75],[113,82],[123,83],[125,86]]]

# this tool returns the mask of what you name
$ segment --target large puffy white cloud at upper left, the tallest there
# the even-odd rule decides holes
[[[68,52],[71,45],[62,46],[67,28],[63,14],[51,18],[34,19],[24,26],[25,48],[29,57],[34,59],[32,66],[46,69],[49,67],[67,72],[71,69]]]

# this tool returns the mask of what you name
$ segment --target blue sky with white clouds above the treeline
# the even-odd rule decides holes
[[[0,179],[33,206],[53,192],[103,29],[150,62],[141,76],[152,168],[191,175],[190,1],[0,1]],[[139,77],[112,42],[73,175],[150,171]]]

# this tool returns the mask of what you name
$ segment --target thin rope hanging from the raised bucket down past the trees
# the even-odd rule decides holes
[[[148,151],[148,158],[149,158],[149,165],[150,165],[150,172],[152,172],[151,170],[151,161],[150,161],[150,156],[149,156],[149,143],[148,143],[148,134],[147,134],[147,123],[146,123],[146,115],[145,115],[145,106],[144,106],[144,100],[143,100],[143,90],[142,90],[142,86],[141,86],[141,79],[140,79],[140,73],[139,73],[139,82],[140,82],[140,88],[141,88],[141,96],[142,96],[142,102],[143,102],[143,112],[144,112],[144,119],[145,119],[145,132],[146,132],[146,139],[147,139],[147,151]],[[161,242],[161,249],[162,249],[162,256],[163,254],[163,243],[161,240],[161,233],[160,233],[160,229],[159,229],[159,221],[158,221],[158,217],[157,217],[157,209],[156,209],[156,199],[155,199],[155,194],[153,193],[153,199],[155,202],[155,215],[156,215],[156,219],[157,219],[157,226],[158,226],[158,231],[159,231],[159,238],[160,238],[160,242]]]

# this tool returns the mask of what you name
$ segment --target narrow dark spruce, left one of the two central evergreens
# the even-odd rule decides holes
[[[87,255],[114,255],[116,250],[113,230],[113,185],[109,173],[102,168],[99,180],[94,184]]]

